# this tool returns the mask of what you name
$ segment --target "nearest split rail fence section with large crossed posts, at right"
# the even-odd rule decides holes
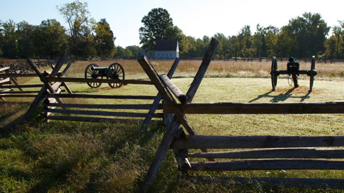
[[[202,78],[213,58],[218,41],[212,39],[193,82],[186,94],[165,75],[158,75],[146,57],[138,62],[162,95],[170,116],[170,124],[144,178],[140,191],[148,191],[169,149],[178,163],[178,169],[187,178],[209,181],[204,176],[188,175],[189,171],[236,170],[344,170],[344,136],[204,136],[187,121],[185,114],[344,114],[344,102],[295,102],[295,103],[191,103]],[[173,98],[176,97],[177,101]],[[184,133],[184,127],[188,135]],[[326,148],[325,148],[326,147]],[[189,153],[188,149],[201,149]],[[244,149],[209,152],[207,149]],[[245,150],[246,149],[246,150]],[[206,158],[208,161],[190,162],[189,158]],[[227,158],[226,161],[215,161]],[[214,177],[230,182],[248,182],[244,177]],[[284,187],[331,187],[344,189],[344,179],[311,178],[252,178],[261,183]]]

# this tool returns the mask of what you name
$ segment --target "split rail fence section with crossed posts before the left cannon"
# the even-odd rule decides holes
[[[47,92],[39,93],[32,105],[26,113],[25,118],[29,117],[33,110],[37,107],[40,101],[43,100],[44,117],[49,120],[63,120],[63,121],[83,121],[83,122],[121,122],[129,120],[142,120],[143,124],[141,129],[144,130],[154,118],[161,120],[163,113],[156,113],[155,111],[162,109],[161,95],[158,93],[156,96],[149,95],[104,95],[104,94],[75,94],[68,88],[65,82],[95,82],[95,83],[122,83],[122,84],[148,84],[152,85],[150,80],[115,80],[115,79],[86,79],[86,78],[69,78],[62,77],[66,69],[61,73],[56,73],[62,67],[62,64],[67,58],[67,53],[58,60],[57,65],[53,67],[53,72],[50,75],[42,76],[42,73],[29,60],[29,64],[36,72],[43,82],[42,90]],[[176,67],[179,64],[179,58],[175,59],[168,76],[171,78]],[[68,68],[68,65],[66,68]],[[46,72],[45,72],[46,73]],[[61,93],[61,89],[56,90],[59,86],[64,86],[68,93]],[[52,91],[55,92],[52,92]],[[99,101],[101,99],[114,99],[114,100],[147,100],[153,101],[148,104],[80,104],[80,103],[64,103],[62,99],[94,99]],[[75,101],[75,100],[74,100]],[[110,111],[112,110],[112,111]],[[149,110],[148,113],[140,113],[138,110]],[[81,116],[80,116],[81,115]],[[124,117],[124,118],[123,118]],[[144,120],[143,120],[144,118]]]

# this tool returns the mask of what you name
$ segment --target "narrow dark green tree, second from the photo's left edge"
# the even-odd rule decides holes
[[[20,58],[28,58],[34,55],[34,30],[36,26],[30,25],[26,21],[17,23],[18,34],[18,56]]]

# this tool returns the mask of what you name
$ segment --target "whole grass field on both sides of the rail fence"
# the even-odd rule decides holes
[[[109,66],[114,61],[102,61]],[[128,79],[145,79],[136,61],[119,60]],[[99,63],[97,61],[97,63]],[[136,63],[136,64],[135,64]],[[258,64],[256,64],[258,63]],[[343,64],[315,78],[313,92],[308,93],[309,80],[300,79],[300,87],[289,87],[286,78],[278,80],[271,92],[268,63],[229,64],[214,61],[209,67],[193,102],[298,102],[344,101],[344,82],[340,76]],[[280,63],[280,62],[279,62]],[[69,77],[83,77],[89,62],[72,65]],[[153,61],[159,73],[167,72],[171,61]],[[173,82],[185,93],[200,61],[181,61]],[[235,67],[233,67],[233,65]],[[279,64],[280,65],[280,64]],[[324,69],[326,64],[323,64]],[[330,65],[330,64],[327,64]],[[258,67],[257,67],[258,66]],[[285,65],[280,65],[285,66]],[[307,65],[307,68],[310,65]],[[222,68],[222,71],[220,70]],[[303,66],[301,66],[303,69]],[[281,68],[280,68],[281,69]],[[335,76],[331,76],[334,73]],[[227,77],[227,78],[224,78]],[[247,78],[251,77],[251,78]],[[255,77],[255,78],[254,78]],[[301,75],[300,75],[301,77]],[[24,80],[21,80],[24,81]],[[27,84],[37,83],[34,78]],[[86,83],[68,83],[75,93],[113,95],[155,95],[153,86],[129,84],[109,89],[103,84],[90,89]],[[9,99],[18,101],[18,99]],[[1,102],[0,126],[0,190],[3,192],[137,192],[164,134],[163,125],[151,124],[140,131],[140,121],[123,123],[79,123],[52,121],[45,123],[37,109],[29,123],[21,116],[30,103]],[[27,101],[27,102],[24,102]],[[32,100],[31,100],[32,101]],[[68,100],[66,101],[68,102]],[[119,104],[130,100],[76,100],[78,103]],[[150,102],[150,101],[149,101]],[[135,104],[147,101],[135,101]],[[318,115],[187,115],[190,124],[201,135],[344,135],[344,117],[337,114]],[[196,150],[190,150],[196,151]],[[219,151],[219,150],[213,150]],[[190,161],[197,160],[191,159]],[[191,174],[249,177],[344,178],[336,170],[193,172]],[[178,180],[172,151],[164,159],[151,192],[338,192],[331,189],[296,189],[284,187],[194,184]]]

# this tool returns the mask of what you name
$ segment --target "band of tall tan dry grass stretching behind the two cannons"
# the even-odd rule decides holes
[[[175,78],[194,77],[201,60],[181,60]],[[88,64],[98,64],[99,66],[110,66],[112,63],[120,63],[124,70],[126,79],[146,79],[148,78],[136,60],[106,60],[106,61],[78,61],[67,71],[65,76],[84,77],[85,68]],[[159,73],[167,73],[173,64],[173,60],[151,60],[154,68]],[[300,70],[310,70],[310,62],[300,61]],[[286,70],[287,61],[278,61],[278,69]],[[316,63],[315,69],[318,72],[318,80],[343,80],[344,63]],[[206,77],[254,77],[269,78],[271,71],[271,61],[223,61],[213,60],[207,70]],[[281,78],[286,77],[281,75]],[[308,79],[307,75],[300,75],[300,79]]]

